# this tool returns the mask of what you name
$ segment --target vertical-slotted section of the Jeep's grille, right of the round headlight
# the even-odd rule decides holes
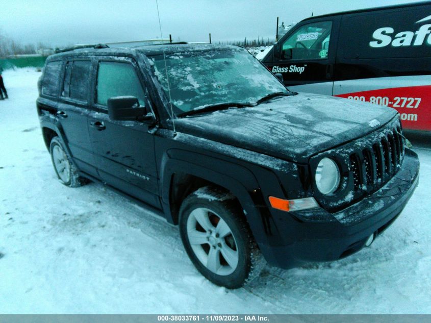
[[[398,171],[403,155],[404,145],[398,126],[369,147],[351,154],[349,170],[354,191],[370,191],[382,186]]]

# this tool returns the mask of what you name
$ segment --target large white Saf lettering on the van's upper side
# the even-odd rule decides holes
[[[431,16],[416,21],[430,20]],[[431,45],[431,24],[422,25],[417,31],[400,31],[395,35],[392,27],[382,27],[374,31],[369,45],[374,48],[386,47],[391,44],[393,47],[400,46],[421,46],[423,44]]]

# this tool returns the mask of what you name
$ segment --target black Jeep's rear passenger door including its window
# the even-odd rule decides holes
[[[91,59],[66,59],[57,117],[78,168],[96,176],[95,160],[87,126],[90,111]]]

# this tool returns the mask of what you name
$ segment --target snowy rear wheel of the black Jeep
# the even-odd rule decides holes
[[[70,156],[67,155],[59,137],[54,137],[51,140],[49,153],[51,154],[54,169],[61,183],[70,187],[79,187],[87,182],[86,179],[78,175],[78,169],[73,164]]]

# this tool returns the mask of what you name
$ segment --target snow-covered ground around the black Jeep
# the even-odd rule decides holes
[[[193,267],[179,232],[90,183],[60,184],[36,114],[33,69],[0,101],[0,313],[431,313],[431,144],[420,184],[371,247],[226,290]]]

